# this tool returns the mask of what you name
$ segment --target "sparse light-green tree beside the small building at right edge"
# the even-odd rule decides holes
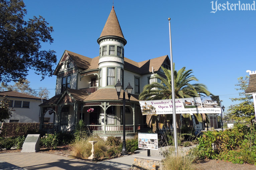
[[[235,86],[238,86],[239,88],[235,88],[236,90],[241,90],[242,92],[239,92],[238,98],[230,98],[232,102],[239,101],[241,103],[234,104],[229,107],[228,110],[228,116],[238,122],[246,122],[253,124],[253,119],[255,119],[255,112],[254,112],[254,105],[252,101],[252,95],[248,95],[245,93],[245,90],[248,87],[248,81],[249,77],[239,77],[238,84],[235,84]]]

